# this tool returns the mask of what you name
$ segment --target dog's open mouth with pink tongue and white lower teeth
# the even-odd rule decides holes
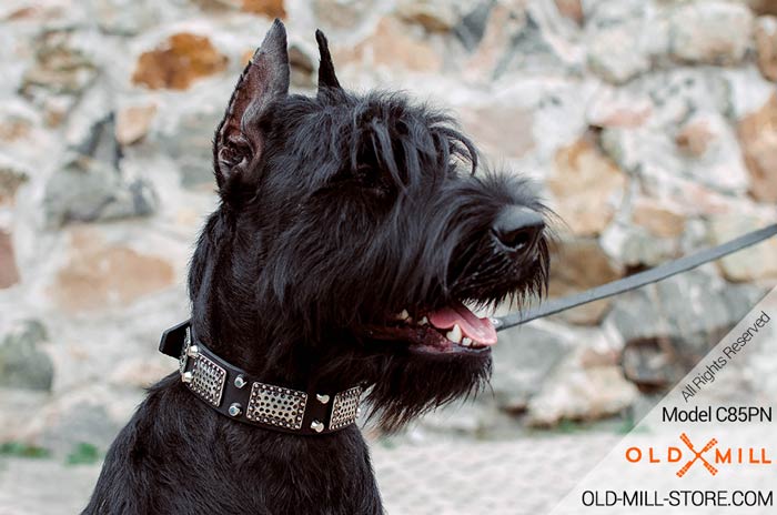
[[[412,317],[407,310],[385,325],[371,325],[366,334],[375,340],[408,342],[425,352],[484,352],[496,343],[496,330],[488,317],[478,317],[462,302]]]

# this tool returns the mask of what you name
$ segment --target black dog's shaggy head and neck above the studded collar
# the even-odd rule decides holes
[[[215,133],[221,208],[192,262],[200,337],[294,387],[372,386],[384,427],[488,377],[496,333],[471,309],[541,293],[542,203],[475,173],[453,120],[341,88],[326,40],[315,97],[289,94],[275,21]]]

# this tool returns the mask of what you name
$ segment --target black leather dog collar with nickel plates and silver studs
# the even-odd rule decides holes
[[[263,383],[198,342],[190,321],[167,330],[159,350],[179,360],[181,381],[196,397],[232,420],[300,435],[334,433],[356,422],[362,385],[320,393]]]

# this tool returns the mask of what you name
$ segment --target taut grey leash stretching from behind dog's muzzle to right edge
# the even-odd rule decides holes
[[[494,317],[492,321],[496,331],[514,327],[531,320],[561,313],[562,311],[566,311],[578,305],[587,304],[601,299],[607,299],[608,296],[617,295],[618,293],[624,293],[629,290],[636,290],[637,287],[642,287],[646,284],[655,283],[678,273],[687,272],[688,270],[695,269],[710,261],[719,260],[725,255],[733,254],[734,252],[738,252],[743,249],[747,249],[748,246],[753,246],[756,243],[760,243],[764,240],[768,240],[775,234],[777,234],[777,223],[757,231],[748,232],[745,235],[720,245],[705,249],[695,254],[686,255],[644,272],[629,275],[628,277],[619,279],[617,281],[603,284],[602,286],[592,287],[585,292],[575,293],[562,299],[545,302],[543,305],[527,310],[523,313],[511,313],[505,316]]]

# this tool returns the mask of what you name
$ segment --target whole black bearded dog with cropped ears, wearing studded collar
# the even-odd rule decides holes
[[[544,289],[529,185],[476,175],[448,117],[345,92],[316,38],[315,98],[287,93],[280,21],[238,82],[181,374],[118,436],[84,513],[383,513],[353,423],[362,388],[387,431],[477,391],[496,333],[464,303]]]

